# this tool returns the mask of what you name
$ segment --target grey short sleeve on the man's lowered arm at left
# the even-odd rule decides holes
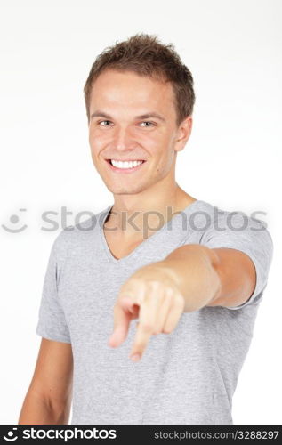
[[[49,255],[49,261],[44,276],[36,334],[38,334],[38,336],[43,336],[48,340],[71,343],[65,314],[58,298],[60,278],[58,267],[58,245],[60,244],[62,235],[61,232],[54,240]]]

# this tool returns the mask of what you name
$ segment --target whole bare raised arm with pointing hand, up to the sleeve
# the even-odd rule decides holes
[[[109,346],[124,342],[131,320],[138,317],[130,358],[140,360],[150,336],[172,332],[182,312],[238,306],[254,293],[255,284],[253,261],[237,249],[178,247],[164,260],[135,271],[122,285]]]

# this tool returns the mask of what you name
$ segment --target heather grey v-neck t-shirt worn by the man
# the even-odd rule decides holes
[[[60,231],[44,278],[36,334],[72,345],[71,424],[232,424],[232,396],[272,261],[269,231],[242,212],[197,200],[118,260],[102,230],[111,208]],[[236,308],[183,312],[173,332],[151,336],[133,362],[137,319],[123,344],[108,345],[119,288],[185,244],[245,252],[256,269],[254,294]]]

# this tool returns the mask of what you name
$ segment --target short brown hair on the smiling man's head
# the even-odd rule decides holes
[[[177,114],[176,125],[180,125],[185,117],[192,114],[195,103],[193,77],[181,62],[173,44],[161,44],[156,35],[139,33],[124,42],[116,42],[107,47],[94,61],[84,87],[88,122],[93,83],[105,69],[130,70],[141,76],[171,82]]]

